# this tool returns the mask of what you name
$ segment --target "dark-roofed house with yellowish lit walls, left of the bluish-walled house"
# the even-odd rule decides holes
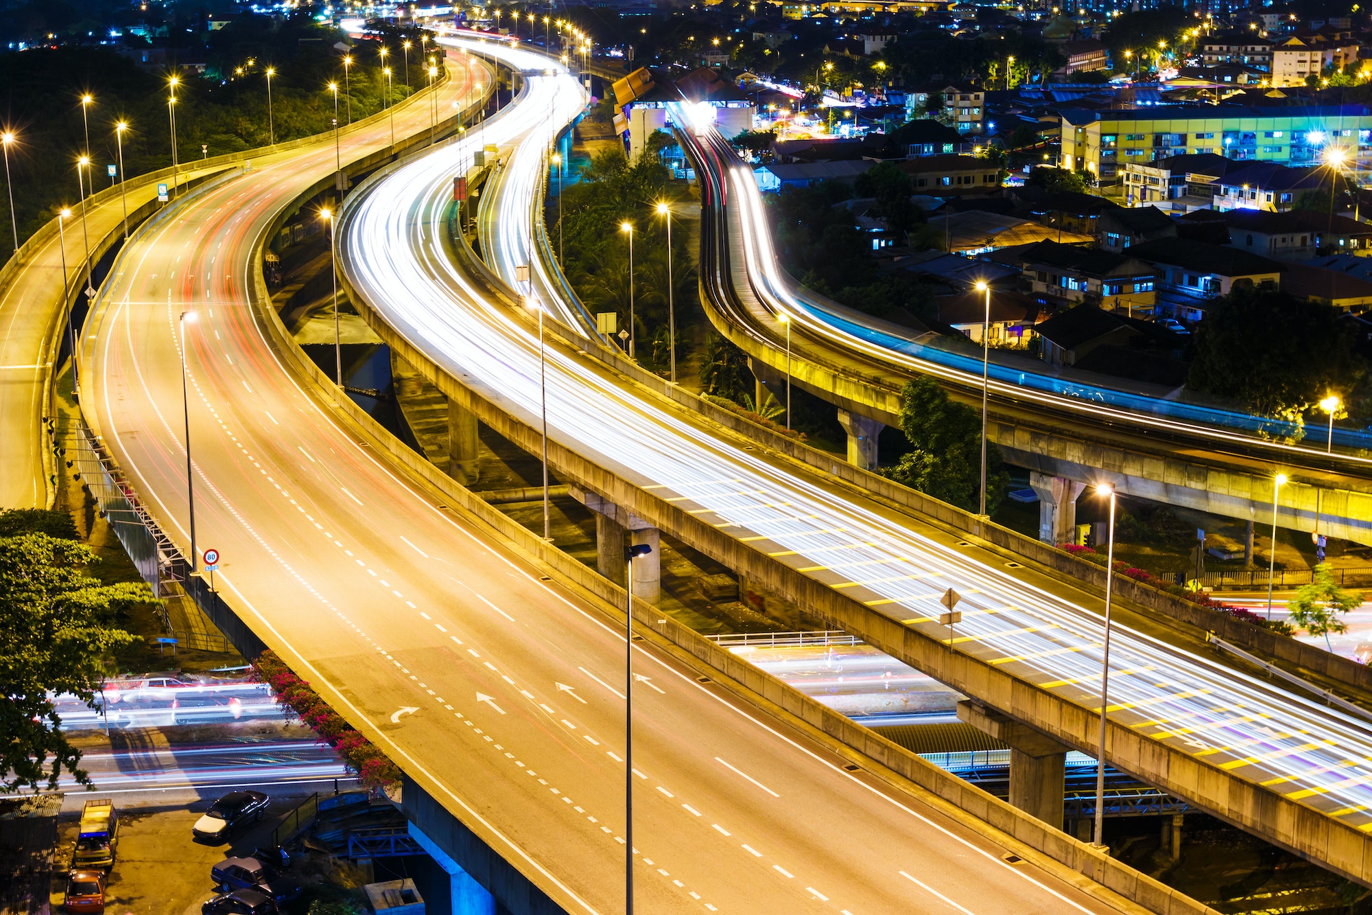
[[[1151,315],[1157,301],[1154,268],[1129,254],[1044,240],[997,251],[991,260],[1018,267],[1026,289],[1050,302]]]

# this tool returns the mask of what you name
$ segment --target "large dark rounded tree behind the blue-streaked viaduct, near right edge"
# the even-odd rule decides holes
[[[1276,290],[1238,289],[1214,300],[1195,334],[1187,386],[1249,411],[1295,419],[1331,390],[1357,409],[1367,375],[1358,331],[1329,305]]]

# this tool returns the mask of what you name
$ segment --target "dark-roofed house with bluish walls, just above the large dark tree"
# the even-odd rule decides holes
[[[1129,251],[1157,269],[1158,310],[1184,321],[1205,319],[1206,302],[1235,289],[1279,289],[1286,265],[1235,247],[1161,238]]]

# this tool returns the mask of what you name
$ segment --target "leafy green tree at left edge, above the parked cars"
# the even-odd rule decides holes
[[[81,572],[97,561],[73,540],[0,537],[0,791],[43,782],[55,790],[62,769],[91,783],[48,695],[71,692],[95,708],[110,653],[134,640],[110,624],[122,610],[156,603],[141,583],[102,585]]]

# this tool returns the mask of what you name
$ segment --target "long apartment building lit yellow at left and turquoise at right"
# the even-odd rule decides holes
[[[1114,179],[1131,163],[1216,154],[1240,162],[1306,165],[1329,144],[1357,168],[1372,165],[1372,106],[1176,106],[1133,111],[1069,109],[1061,117],[1062,166]]]

